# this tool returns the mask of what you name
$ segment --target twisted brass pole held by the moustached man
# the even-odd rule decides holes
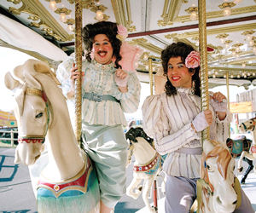
[[[75,81],[75,135],[80,144],[82,129],[82,3],[75,0],[75,55],[80,78]]]

